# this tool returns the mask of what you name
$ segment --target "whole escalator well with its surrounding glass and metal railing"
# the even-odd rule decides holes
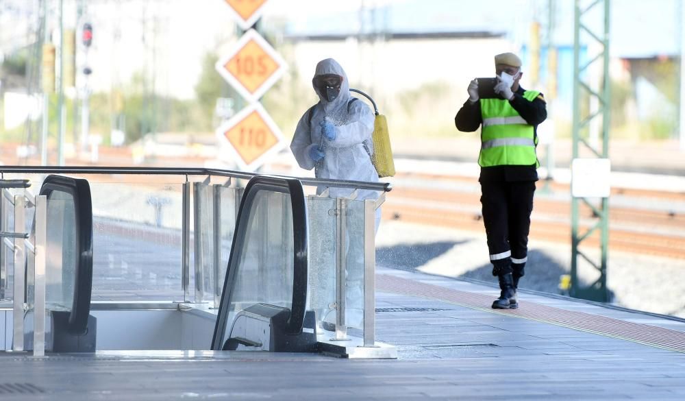
[[[3,199],[13,202],[0,208],[0,290],[12,297],[0,299],[0,350],[389,355],[373,343],[373,293],[364,291],[373,289],[364,281],[378,202],[303,191],[371,184],[210,169],[5,170]],[[7,179],[14,174],[22,186]],[[40,195],[22,189],[30,182],[42,182]],[[168,199],[163,213],[151,197]],[[346,308],[363,320],[346,321]]]

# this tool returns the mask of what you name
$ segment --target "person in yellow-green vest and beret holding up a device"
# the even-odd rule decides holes
[[[458,130],[474,132],[482,125],[480,170],[483,221],[488,238],[493,276],[501,294],[493,308],[519,306],[516,289],[524,275],[528,255],[530,213],[533,210],[537,126],[547,118],[545,98],[519,85],[521,59],[514,53],[495,56],[495,96],[479,97],[478,80],[467,89],[469,99],[457,112]]]

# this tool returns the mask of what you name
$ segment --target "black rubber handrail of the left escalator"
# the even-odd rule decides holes
[[[69,315],[69,332],[83,335],[88,330],[92,293],[92,199],[88,180],[48,175],[40,186],[40,195],[49,199],[53,191],[69,193],[74,199],[77,254],[74,297]],[[49,224],[49,221],[47,222]],[[49,226],[48,226],[49,228]]]

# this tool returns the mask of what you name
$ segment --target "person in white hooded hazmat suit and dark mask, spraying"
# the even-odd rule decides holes
[[[316,64],[312,85],[314,92],[319,96],[319,103],[303,114],[290,143],[290,149],[299,166],[307,170],[314,169],[316,178],[378,182],[378,173],[371,164],[371,154],[373,154],[371,133],[375,118],[371,108],[366,106],[364,101],[351,97],[347,75],[343,67],[332,58],[321,60],[319,64]],[[321,194],[325,189],[325,186],[319,186],[316,193]],[[328,196],[331,198],[349,197],[353,191],[349,188],[331,187]],[[356,199],[376,199],[378,195],[377,191],[358,190]],[[350,221],[351,224],[362,223],[362,219],[357,218]],[[379,222],[380,208],[377,208],[376,230]],[[349,232],[355,234],[347,235],[345,321],[347,326],[351,327],[361,326],[364,304],[362,293],[364,239],[358,234],[361,232],[359,228],[349,227]],[[321,252],[330,253],[323,249]],[[317,253],[312,252],[312,256]],[[314,263],[321,263],[321,261]],[[333,287],[334,278],[325,279],[325,287]],[[319,284],[323,283],[319,282]],[[332,293],[330,288],[329,291],[318,290]],[[334,321],[335,315],[330,312],[319,311],[324,315],[321,318],[325,319],[325,322]],[[330,325],[328,327],[330,329]]]

